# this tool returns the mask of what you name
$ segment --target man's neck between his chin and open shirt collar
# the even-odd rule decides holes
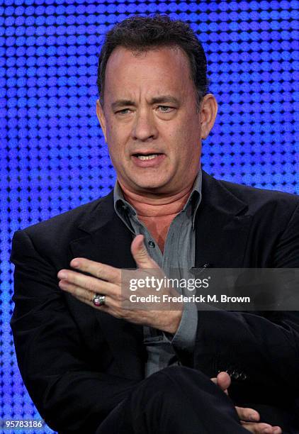
[[[186,185],[176,194],[169,194],[167,196],[148,197],[142,194],[138,194],[135,191],[128,189],[124,184],[118,181],[125,200],[131,204],[138,216],[145,217],[165,217],[176,215],[179,213],[186,204],[188,197],[190,196],[194,180]]]

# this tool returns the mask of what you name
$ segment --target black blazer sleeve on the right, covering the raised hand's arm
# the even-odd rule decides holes
[[[294,208],[273,251],[273,267],[299,267],[299,206]],[[235,396],[245,402],[294,402],[299,390],[299,312],[198,311],[191,365],[210,377],[229,372],[230,396],[237,391]]]

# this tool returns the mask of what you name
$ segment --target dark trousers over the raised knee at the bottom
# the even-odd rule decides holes
[[[96,434],[243,434],[230,398],[201,372],[167,367],[144,379]]]

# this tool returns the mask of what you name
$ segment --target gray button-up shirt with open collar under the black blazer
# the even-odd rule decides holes
[[[145,245],[150,257],[164,270],[167,277],[186,279],[188,278],[188,270],[194,267],[194,221],[196,211],[201,203],[201,179],[202,174],[200,170],[193,184],[193,189],[188,201],[169,226],[163,254],[149,230],[147,230],[145,225],[138,219],[135,208],[124,199],[123,191],[120,189],[118,182],[115,183],[115,212],[133,235],[142,234],[145,236]],[[180,291],[180,289],[178,290]],[[193,351],[197,323],[198,315],[196,304],[188,303],[184,304],[181,323],[175,335],[162,333],[160,330],[150,327],[143,328],[144,343],[147,349],[145,376],[153,374],[169,365],[177,365],[178,359],[174,347],[188,352]]]

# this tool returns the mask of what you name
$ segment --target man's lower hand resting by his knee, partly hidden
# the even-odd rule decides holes
[[[227,372],[220,372],[217,378],[211,378],[213,383],[217,384],[225,394],[228,395],[227,389],[230,386],[230,375]],[[246,428],[253,434],[281,434],[279,426],[271,426],[269,423],[259,422],[259,413],[253,408],[235,407],[239,420],[243,428]]]

